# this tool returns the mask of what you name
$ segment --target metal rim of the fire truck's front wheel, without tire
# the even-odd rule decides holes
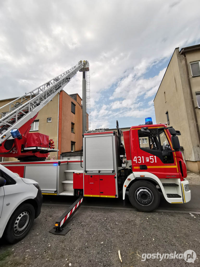
[[[147,187],[140,187],[135,192],[136,201],[142,206],[149,206],[153,202],[154,196]]]

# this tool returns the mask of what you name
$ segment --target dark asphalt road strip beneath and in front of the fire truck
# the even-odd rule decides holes
[[[191,190],[191,200],[188,203],[184,204],[170,204],[168,203],[163,195],[161,194],[161,202],[157,210],[169,210],[169,211],[193,211],[200,212],[200,186],[199,185],[190,185]],[[77,197],[70,196],[49,196],[43,195],[43,204],[44,205],[66,205],[70,206],[74,203]],[[119,198],[94,198],[94,197],[85,197],[82,204],[83,207],[104,207],[104,208],[124,208],[124,209],[134,209],[130,204],[129,198],[126,195],[125,205],[123,203],[122,194]]]

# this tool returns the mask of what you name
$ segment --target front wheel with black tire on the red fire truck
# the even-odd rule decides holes
[[[129,200],[139,211],[149,212],[158,207],[160,194],[152,183],[138,181],[130,186]]]

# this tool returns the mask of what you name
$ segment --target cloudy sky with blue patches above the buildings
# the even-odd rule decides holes
[[[142,124],[176,47],[200,43],[199,0],[0,2],[0,99],[90,63],[91,129]],[[65,87],[82,96],[82,75]]]

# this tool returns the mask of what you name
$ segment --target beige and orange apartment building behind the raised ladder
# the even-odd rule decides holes
[[[13,101],[12,99],[0,100],[0,107]],[[65,152],[80,151],[82,148],[82,105],[81,97],[76,93],[68,95],[61,90],[48,104],[43,107],[35,121],[31,124],[30,132],[40,132],[53,139],[55,149],[50,152],[50,157],[61,159]],[[17,103],[15,103],[17,104]],[[0,109],[6,114],[8,110]],[[4,161],[13,161],[15,158],[4,158]]]

